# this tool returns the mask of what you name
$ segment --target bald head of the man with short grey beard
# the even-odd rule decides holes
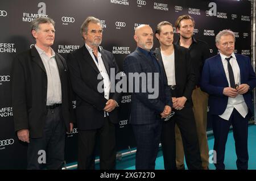
[[[137,46],[148,51],[153,47],[153,36],[152,28],[147,24],[138,26],[134,32],[134,40],[137,42]]]

